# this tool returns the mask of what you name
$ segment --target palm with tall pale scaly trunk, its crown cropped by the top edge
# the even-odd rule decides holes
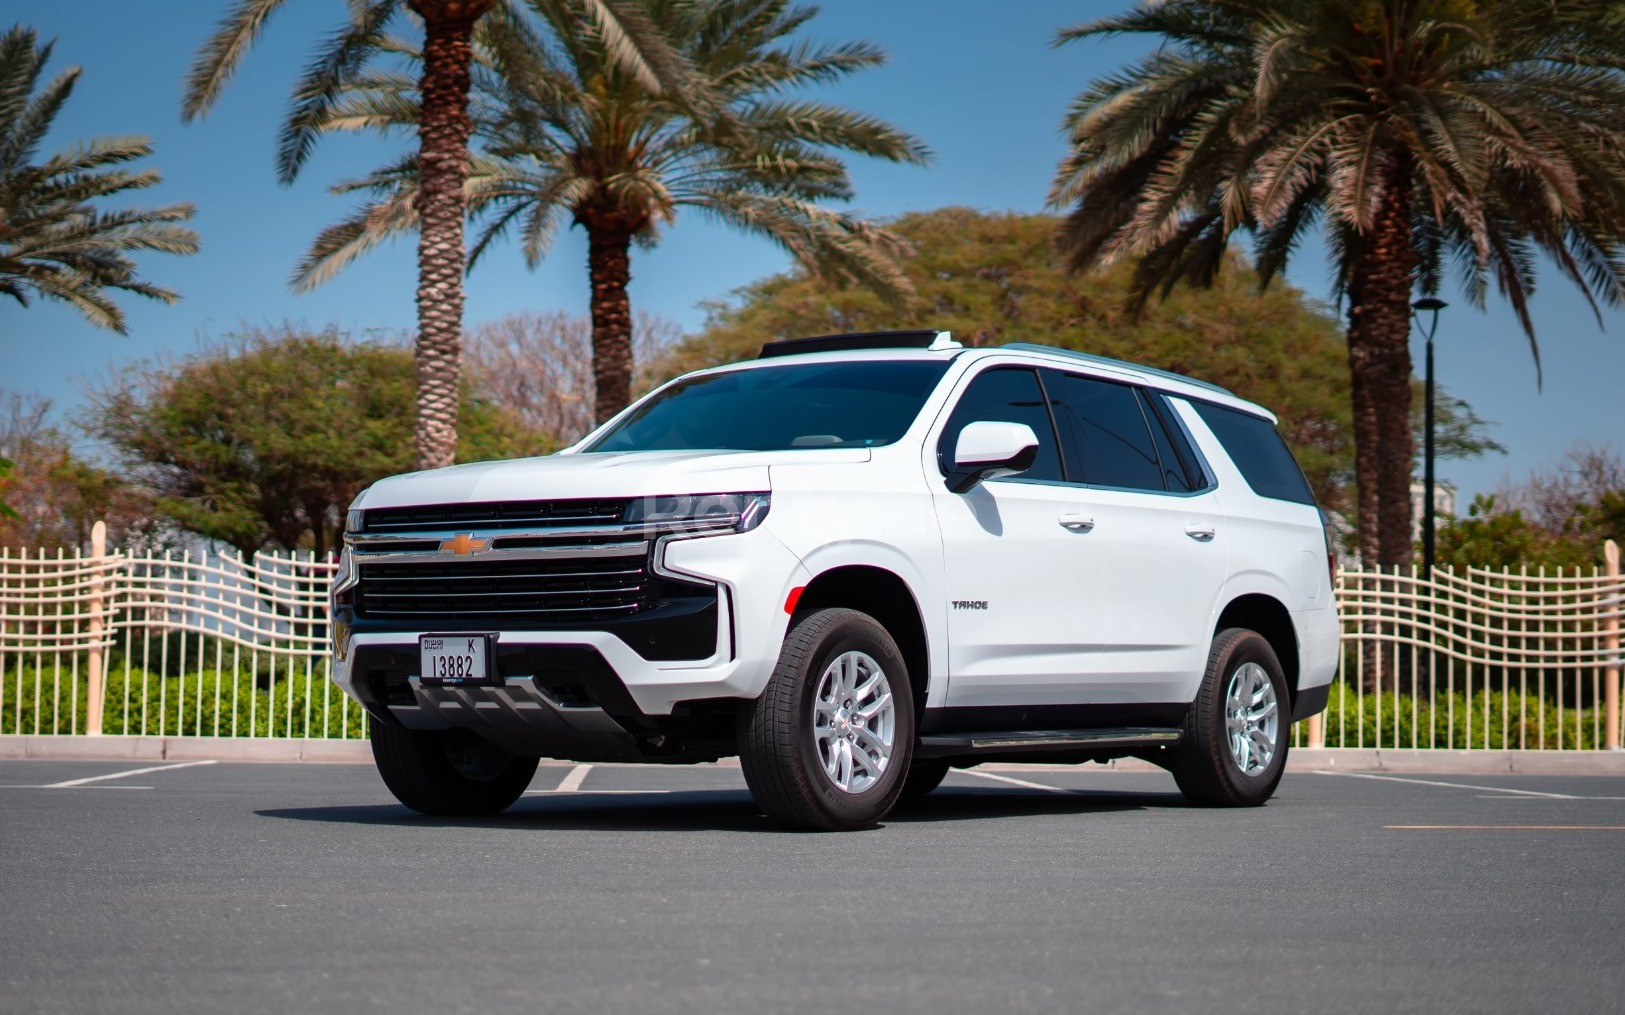
[[[237,0],[214,36],[198,52],[187,81],[182,119],[202,117],[219,99],[242,55],[265,21],[286,0]],[[408,8],[422,23],[424,101],[414,117],[421,167],[422,227],[418,237],[418,422],[413,430],[419,469],[452,464],[457,453],[458,372],[463,330],[463,185],[468,172],[468,81],[474,24],[497,6],[515,15],[518,0],[351,0],[344,24],[318,47],[294,88],[276,158],[278,177],[292,182],[309,159],[344,86],[384,50],[390,23]],[[650,88],[676,76],[658,58],[658,39],[627,0],[531,0],[566,34],[604,39],[611,60]],[[656,54],[653,62],[645,60]],[[658,75],[663,73],[665,78]]]

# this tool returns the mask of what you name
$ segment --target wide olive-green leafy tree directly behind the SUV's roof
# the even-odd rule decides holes
[[[1058,218],[968,208],[910,213],[889,227],[908,240],[916,297],[892,305],[804,271],[775,274],[712,304],[707,326],[678,343],[656,374],[749,359],[764,341],[832,331],[933,326],[972,346],[1034,341],[1190,374],[1280,417],[1321,503],[1341,508],[1352,474],[1349,364],[1337,322],[1290,286],[1258,289],[1240,258],[1211,289],[1175,289],[1126,309],[1131,268],[1066,271]],[[1498,450],[1466,403],[1440,400],[1440,456]]]

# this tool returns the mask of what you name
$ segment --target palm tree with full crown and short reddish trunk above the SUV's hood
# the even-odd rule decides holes
[[[557,45],[523,24],[492,21],[479,36],[481,151],[468,209],[481,222],[478,258],[517,232],[535,266],[561,221],[587,232],[592,283],[595,416],[630,398],[630,250],[652,245],[678,209],[767,237],[809,270],[900,296],[907,278],[894,237],[821,206],[852,197],[848,151],[923,164],[913,136],[863,114],[783,93],[884,60],[866,42],[785,44],[816,8],[788,0],[644,0],[644,13],[684,58],[682,91],[656,93],[627,73],[604,39],[551,21]],[[335,106],[330,128],[388,130],[410,122],[410,80],[379,73]],[[387,237],[418,224],[418,166],[410,159],[340,190],[370,192],[349,219],[323,231],[296,283],[315,286]]]

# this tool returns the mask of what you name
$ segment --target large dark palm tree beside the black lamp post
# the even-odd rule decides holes
[[[1412,557],[1410,300],[1446,271],[1529,318],[1542,258],[1625,299],[1617,0],[1165,0],[1058,44],[1160,45],[1068,114],[1050,201],[1072,265],[1138,263],[1138,299],[1207,283],[1237,231],[1263,281],[1321,229],[1347,305],[1360,554]],[[1599,317],[1601,323],[1601,317]]]

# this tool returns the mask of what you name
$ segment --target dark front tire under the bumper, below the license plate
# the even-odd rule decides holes
[[[536,775],[536,758],[514,757],[463,729],[372,723],[372,760],[396,801],[432,815],[497,814]]]

